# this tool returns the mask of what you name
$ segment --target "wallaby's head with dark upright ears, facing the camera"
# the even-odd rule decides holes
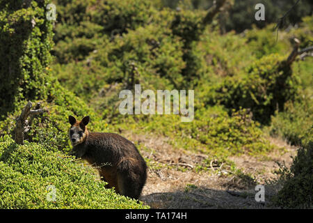
[[[89,123],[89,116],[83,117],[81,121],[77,121],[73,116],[68,116],[68,121],[71,124],[70,141],[73,146],[83,143],[88,137],[88,130],[86,125]]]

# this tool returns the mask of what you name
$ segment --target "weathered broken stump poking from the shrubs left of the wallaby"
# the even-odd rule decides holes
[[[24,133],[28,132],[29,129],[31,128],[29,126],[29,122],[27,118],[31,115],[31,119],[33,118],[34,115],[37,114],[42,114],[44,112],[47,112],[45,109],[39,109],[40,104],[37,104],[35,110],[31,110],[31,107],[33,105],[29,101],[24,109],[22,110],[22,113],[17,117],[16,119],[16,125],[15,125],[15,142],[17,144],[24,144]]]

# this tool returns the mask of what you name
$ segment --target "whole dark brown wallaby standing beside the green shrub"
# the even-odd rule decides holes
[[[115,192],[138,199],[147,179],[145,160],[136,146],[119,134],[89,132],[89,119],[86,116],[78,122],[68,117],[74,155],[98,167],[107,188],[114,187]]]

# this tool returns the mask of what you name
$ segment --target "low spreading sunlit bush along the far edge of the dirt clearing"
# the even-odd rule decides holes
[[[247,109],[233,111],[232,116],[219,106],[199,109],[194,120],[186,123],[178,115],[128,116],[118,127],[138,134],[161,134],[173,146],[201,151],[218,159],[241,154],[265,155],[274,148]]]

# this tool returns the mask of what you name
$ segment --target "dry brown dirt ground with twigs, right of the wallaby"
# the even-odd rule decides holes
[[[265,202],[257,202],[255,185],[263,185],[276,177],[274,171],[279,168],[276,162],[284,162],[289,167],[291,156],[296,155],[297,150],[281,139],[271,138],[272,144],[284,150],[272,151],[268,155],[270,159],[260,160],[248,155],[230,157],[242,170],[243,175],[239,176],[223,165],[216,167],[214,162],[211,162],[211,170],[196,171],[196,165],[207,155],[172,148],[166,137],[129,132],[122,132],[122,135],[148,148],[141,149],[141,154],[150,160],[153,168],[148,171],[140,200],[151,208],[268,208],[266,199],[278,187],[266,185]],[[253,176],[254,181],[249,176]]]

